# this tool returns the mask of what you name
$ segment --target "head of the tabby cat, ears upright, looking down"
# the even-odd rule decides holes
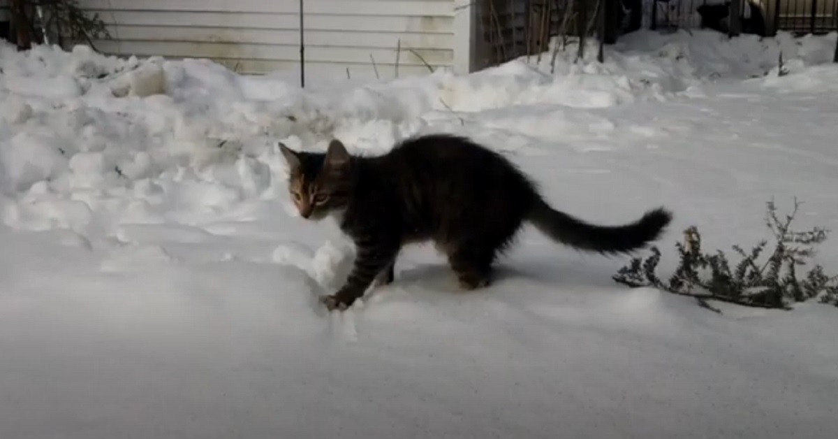
[[[352,156],[339,140],[326,154],[297,152],[279,144],[290,170],[288,193],[300,216],[313,221],[342,210],[352,193]]]

